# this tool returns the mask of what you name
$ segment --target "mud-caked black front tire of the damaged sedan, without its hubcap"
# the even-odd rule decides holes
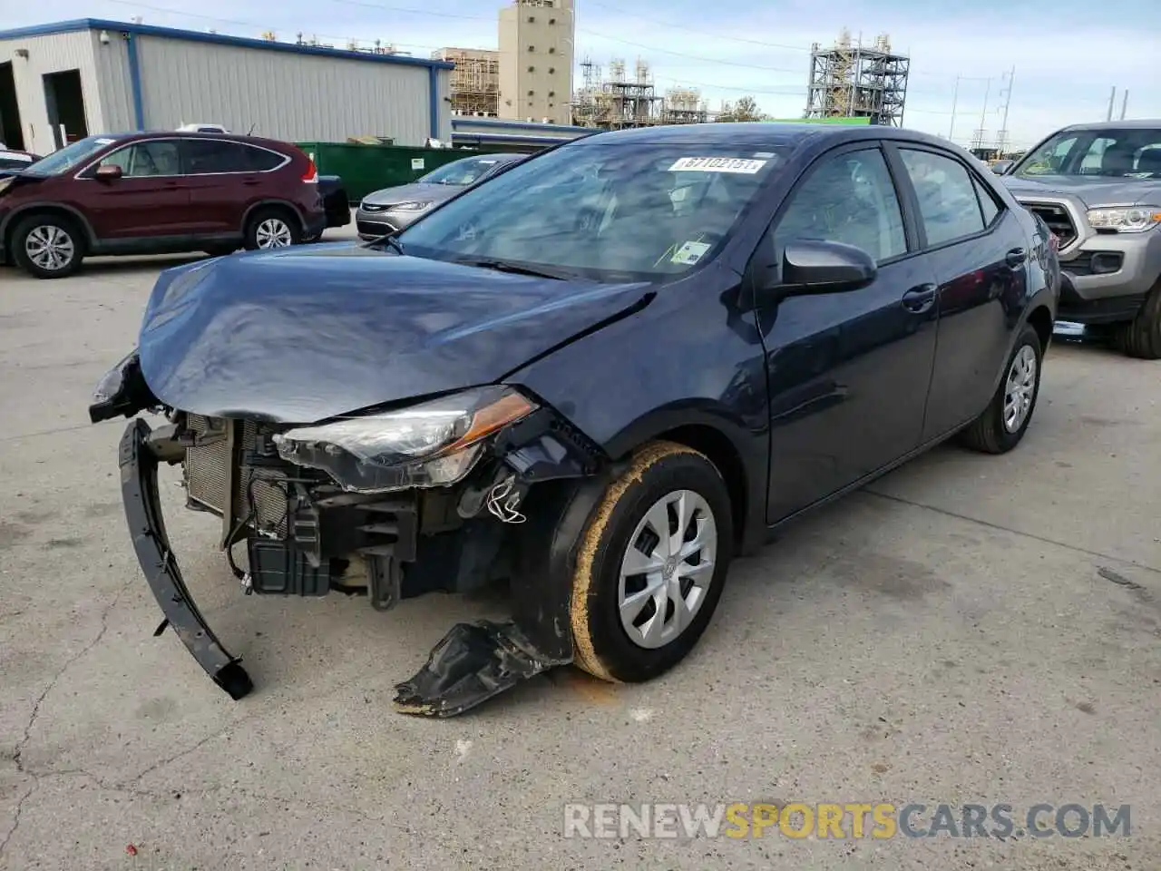
[[[714,568],[700,606],[668,643],[641,647],[629,639],[619,612],[621,562],[629,538],[659,499],[692,491],[716,525]],[[672,441],[651,441],[605,490],[580,537],[572,575],[571,628],[575,664],[605,681],[640,683],[668,671],[698,643],[721,598],[734,544],[729,492],[704,455]]]

